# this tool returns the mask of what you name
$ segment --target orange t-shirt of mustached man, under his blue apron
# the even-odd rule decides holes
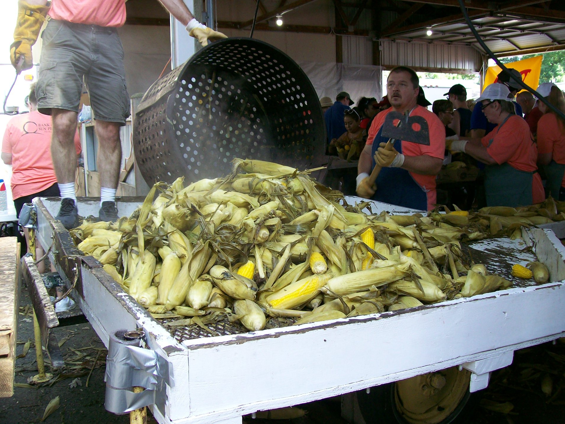
[[[369,129],[366,145],[370,146],[373,144],[373,140],[375,140],[379,129],[381,129],[385,122],[386,115],[392,110],[393,108],[389,107],[389,109],[375,116],[371,128]],[[445,152],[445,127],[440,118],[423,106],[416,106],[410,113],[410,116],[422,116],[428,123],[429,146],[413,143],[411,141],[401,141],[402,154],[406,156],[428,155],[443,160]],[[436,176],[415,174],[414,172],[410,172],[410,175],[420,187],[425,189],[428,198],[428,210],[432,210],[437,200]]]

